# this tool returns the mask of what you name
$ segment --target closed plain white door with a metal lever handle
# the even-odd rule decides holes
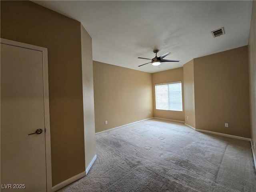
[[[46,192],[42,52],[2,43],[0,51],[1,191]]]

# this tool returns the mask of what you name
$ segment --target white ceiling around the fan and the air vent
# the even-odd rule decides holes
[[[92,37],[93,60],[144,72],[248,44],[252,1],[33,1],[78,20]],[[224,27],[213,38],[211,31]],[[180,60],[158,66],[149,60]]]

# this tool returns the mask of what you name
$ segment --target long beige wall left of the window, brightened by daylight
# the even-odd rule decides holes
[[[95,132],[152,117],[150,73],[93,61],[93,80]]]

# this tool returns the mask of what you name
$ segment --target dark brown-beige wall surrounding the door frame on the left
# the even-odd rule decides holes
[[[1,1],[0,14],[1,38],[48,48],[54,186],[85,170],[80,22],[30,1]]]

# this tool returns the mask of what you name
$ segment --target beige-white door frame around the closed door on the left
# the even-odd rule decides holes
[[[50,138],[50,108],[49,108],[49,83],[48,83],[48,50],[44,47],[30,45],[1,38],[0,43],[37,50],[42,52],[43,78],[44,78],[44,126],[45,126],[45,153],[46,153],[46,185],[47,192],[52,191],[52,159]]]

